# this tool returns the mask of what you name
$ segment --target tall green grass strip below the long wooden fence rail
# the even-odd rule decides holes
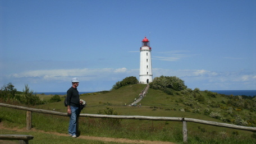
[[[1,121],[6,127],[25,127],[26,114],[22,110],[0,108]],[[17,113],[20,111],[20,113]],[[8,115],[15,115],[10,118]],[[68,117],[33,113],[33,128],[48,132],[67,133]],[[252,132],[228,131],[225,128],[216,129],[213,126],[191,128],[189,124],[189,143],[255,143]],[[103,123],[100,118],[79,118],[81,135],[97,137],[128,138],[131,140],[169,141],[182,143],[182,123],[161,122],[150,120],[122,120],[112,126]],[[243,134],[244,133],[244,134]],[[251,133],[251,134],[249,134]],[[40,137],[40,136],[39,136]]]

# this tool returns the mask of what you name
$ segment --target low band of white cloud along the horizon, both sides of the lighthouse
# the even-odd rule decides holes
[[[235,71],[235,72],[215,72],[207,69],[163,69],[153,68],[153,78],[159,76],[177,76],[185,81],[185,85],[200,90],[255,90],[256,72]],[[57,83],[68,83],[72,77],[78,77],[84,91],[109,90],[117,81],[125,77],[135,76],[139,78],[139,69],[127,68],[83,68],[83,69],[45,69],[35,71],[25,71],[14,73],[4,77],[7,82],[13,82],[15,87],[24,87],[24,83],[29,83],[36,91],[43,91],[41,87],[56,85]],[[16,83],[19,83],[18,86]],[[33,83],[33,85],[32,85]],[[54,84],[55,83],[55,84]],[[82,84],[83,83],[83,84]],[[90,83],[90,84],[89,84]],[[57,84],[58,85],[58,84]],[[56,85],[56,89],[58,89]],[[104,88],[107,87],[107,88]],[[21,88],[20,88],[21,89]],[[60,89],[60,88],[59,88]],[[80,89],[82,89],[80,87]],[[54,91],[54,90],[53,90]]]

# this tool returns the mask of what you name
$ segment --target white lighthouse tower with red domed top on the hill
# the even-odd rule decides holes
[[[140,82],[152,82],[151,47],[149,40],[145,37],[140,47]]]

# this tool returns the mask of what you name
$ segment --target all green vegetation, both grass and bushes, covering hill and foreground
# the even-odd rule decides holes
[[[200,91],[198,88],[192,90],[186,87],[184,81],[180,78],[161,76],[154,78],[154,81],[150,83],[148,93],[139,102],[141,107],[125,106],[132,103],[134,98],[138,98],[141,90],[147,85],[138,84],[134,78],[125,78],[124,80],[117,82],[118,85],[116,83],[113,86],[118,87],[118,89],[81,95],[81,99],[84,99],[87,103],[82,113],[185,117],[239,126],[256,126],[255,96],[222,95],[208,90]],[[36,95],[38,98],[33,98],[35,100],[39,99],[44,103],[28,104],[22,100],[20,101],[17,97],[25,97],[26,90],[28,91],[27,95],[31,94],[31,90],[28,90],[28,88],[28,85],[25,85],[23,92],[17,92],[11,83],[3,86],[0,91],[0,102],[38,109],[54,109],[58,112],[66,113],[66,108],[63,105],[65,95]],[[16,91],[14,95],[12,90]],[[58,101],[59,97],[61,101]],[[0,114],[0,122],[5,127],[26,127],[26,112],[4,107],[0,107],[0,110],[2,112]],[[182,123],[180,122],[84,117],[80,118],[79,122],[81,136],[182,143]],[[66,133],[67,126],[68,117],[33,113],[33,128],[35,129],[45,132]],[[254,132],[197,123],[188,123],[188,136],[188,143],[256,142],[256,133]],[[54,141],[53,143],[58,142]],[[79,143],[78,140],[77,143]]]

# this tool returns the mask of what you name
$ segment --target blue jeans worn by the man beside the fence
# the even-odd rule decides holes
[[[70,124],[68,126],[68,134],[72,134],[72,136],[76,135],[76,120],[79,114],[79,108],[75,106],[70,106],[71,115],[70,117]]]

